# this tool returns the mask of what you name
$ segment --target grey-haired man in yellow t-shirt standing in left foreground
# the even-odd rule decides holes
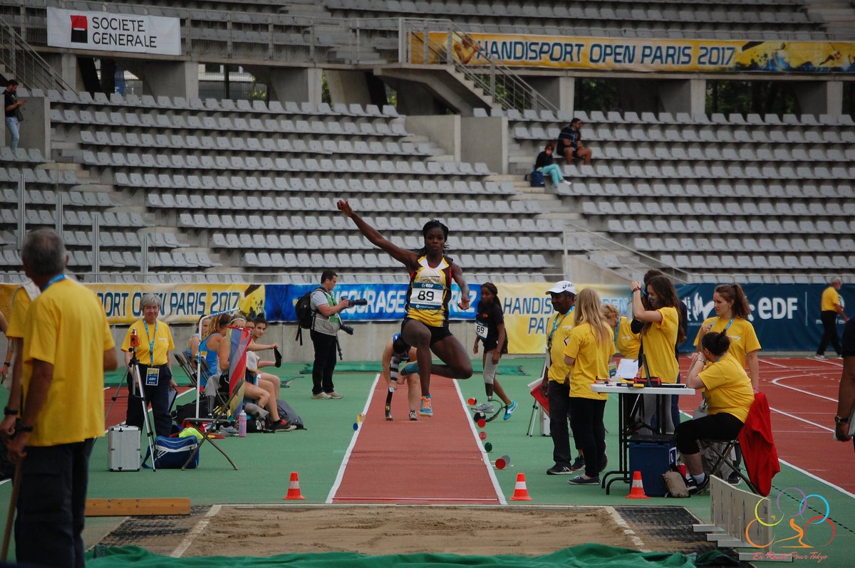
[[[21,249],[41,295],[27,313],[23,425],[8,448],[21,467],[18,562],[82,568],[89,456],[103,436],[103,372],[115,369],[116,354],[101,302],[62,273],[67,259],[53,229],[30,232]]]

